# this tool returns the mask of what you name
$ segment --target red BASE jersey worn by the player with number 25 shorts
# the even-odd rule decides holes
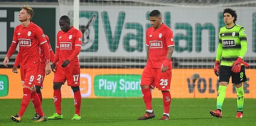
[[[149,48],[147,65],[160,69],[167,57],[168,47],[174,46],[173,31],[164,23],[157,30],[154,27],[147,29],[146,46]],[[170,65],[171,65],[170,60]],[[170,66],[168,66],[170,67]]]

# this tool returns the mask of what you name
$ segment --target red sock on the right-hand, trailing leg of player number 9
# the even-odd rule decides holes
[[[41,102],[40,102],[40,99],[36,93],[36,91],[33,91],[31,93],[31,101],[33,103],[33,106],[35,107],[35,109],[37,110],[38,112],[38,115],[40,116],[45,116],[45,114],[43,113],[43,110],[42,110],[42,107],[41,107]]]

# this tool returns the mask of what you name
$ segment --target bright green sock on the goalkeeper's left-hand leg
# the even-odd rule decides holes
[[[222,104],[225,99],[225,94],[226,94],[226,86],[219,85],[219,90],[217,93],[217,109],[222,110]]]

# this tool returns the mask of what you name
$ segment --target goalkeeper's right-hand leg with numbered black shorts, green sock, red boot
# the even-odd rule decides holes
[[[232,83],[235,83],[236,93],[237,93],[237,114],[236,118],[243,117],[243,101],[244,101],[244,91],[243,91],[243,82],[247,81],[247,77],[245,75],[245,66],[241,66],[241,71],[239,73],[232,72]]]

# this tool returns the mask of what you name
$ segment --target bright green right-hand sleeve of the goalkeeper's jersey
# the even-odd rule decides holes
[[[247,35],[245,32],[245,28],[243,27],[239,30],[239,38],[240,38],[240,44],[241,44],[241,52],[239,57],[243,58],[247,51]]]

